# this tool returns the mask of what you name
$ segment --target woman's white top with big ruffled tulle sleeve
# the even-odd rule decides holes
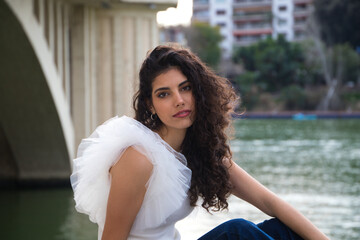
[[[193,209],[188,198],[191,170],[186,158],[157,133],[126,116],[108,120],[80,143],[70,177],[76,210],[98,224],[100,240],[110,191],[109,169],[130,146],[147,156],[153,171],[128,239],[180,239],[175,223]]]

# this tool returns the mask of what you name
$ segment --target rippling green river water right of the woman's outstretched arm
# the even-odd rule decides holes
[[[360,121],[240,121],[232,142],[249,173],[331,239],[360,239]]]

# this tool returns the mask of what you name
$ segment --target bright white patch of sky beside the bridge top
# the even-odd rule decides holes
[[[157,22],[161,26],[189,25],[192,16],[193,0],[178,0],[176,8],[158,12]]]

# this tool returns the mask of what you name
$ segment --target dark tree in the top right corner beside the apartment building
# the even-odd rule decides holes
[[[359,0],[316,0],[314,6],[321,39],[328,46],[348,43],[360,47]]]

